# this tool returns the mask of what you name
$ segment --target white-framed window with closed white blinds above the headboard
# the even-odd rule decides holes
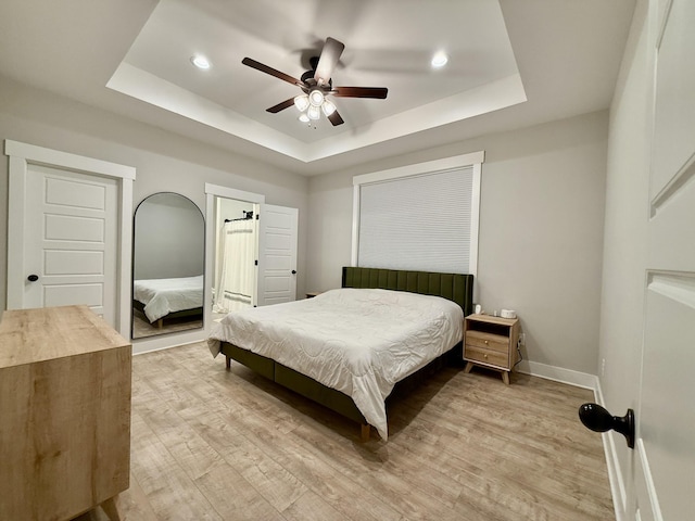
[[[356,176],[354,266],[477,275],[484,152]]]

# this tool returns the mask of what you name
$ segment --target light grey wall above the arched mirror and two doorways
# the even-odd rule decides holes
[[[149,125],[0,77],[0,140],[137,168],[134,208],[148,195],[173,191],[205,214],[205,182],[254,193],[299,208],[298,294],[303,294],[307,180],[302,176]],[[0,161],[0,251],[7,252],[8,161]],[[0,255],[0,309],[5,308],[7,255]]]

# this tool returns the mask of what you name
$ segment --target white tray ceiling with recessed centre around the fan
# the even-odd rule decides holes
[[[305,175],[606,109],[634,0],[2,0],[0,74]],[[345,45],[344,125],[307,126],[293,77]],[[432,69],[444,50],[450,62]],[[192,66],[204,54],[208,71]]]

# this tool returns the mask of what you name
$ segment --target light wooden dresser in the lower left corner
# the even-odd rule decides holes
[[[0,519],[67,520],[128,488],[131,346],[86,306],[4,312]]]

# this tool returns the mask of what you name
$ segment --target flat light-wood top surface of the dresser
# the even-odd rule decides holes
[[[11,309],[0,322],[0,369],[125,346],[87,306]]]

